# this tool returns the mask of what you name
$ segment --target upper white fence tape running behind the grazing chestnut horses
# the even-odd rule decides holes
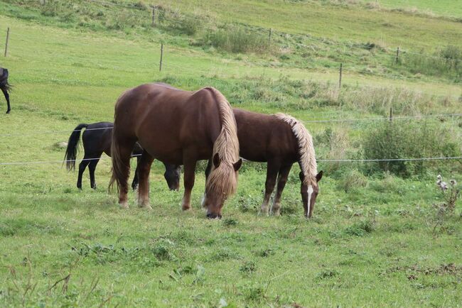
[[[416,120],[421,121],[424,119],[431,118],[458,118],[462,114],[428,114],[423,116],[393,116],[392,120]],[[321,119],[321,120],[306,120],[301,121],[302,123],[331,123],[331,122],[355,122],[355,121],[389,121],[390,117],[376,117],[376,118],[364,118],[364,119]],[[58,133],[74,133],[78,131],[102,131],[105,129],[112,129],[112,127],[101,127],[101,128],[81,128],[74,129],[72,131],[33,131],[30,133],[4,133],[0,134],[1,137],[11,137],[11,136],[37,136],[42,134],[58,134]]]

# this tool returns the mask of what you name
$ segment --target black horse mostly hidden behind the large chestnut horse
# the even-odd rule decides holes
[[[82,175],[85,168],[88,166],[90,170],[90,185],[93,189],[96,189],[95,182],[95,169],[96,165],[100,161],[102,153],[111,155],[111,143],[112,143],[112,127],[113,123],[110,122],[99,122],[92,124],[79,124],[74,128],[74,131],[70,134],[68,141],[68,148],[65,153],[66,168],[68,170],[75,169],[75,159],[77,158],[77,151],[79,148],[80,133],[85,129],[82,134],[82,143],[85,150],[83,160],[79,165],[79,175],[77,178],[77,188],[82,189]],[[138,143],[135,143],[133,149],[133,155],[137,156],[137,159],[141,159],[143,148]],[[167,181],[168,188],[171,190],[178,190],[180,187],[180,167],[174,165],[164,164],[166,172],[163,174]],[[138,187],[138,172],[135,171],[134,179],[131,184],[133,189]]]

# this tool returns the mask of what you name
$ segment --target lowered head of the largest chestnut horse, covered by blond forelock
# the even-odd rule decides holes
[[[236,163],[227,163],[216,153],[213,156],[213,170],[205,185],[203,207],[207,208],[207,217],[221,219],[221,209],[227,197],[234,193],[237,187],[237,170],[242,165],[242,159]]]

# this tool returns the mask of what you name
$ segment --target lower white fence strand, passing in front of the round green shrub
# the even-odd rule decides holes
[[[142,154],[131,155],[131,158],[141,156]],[[107,160],[109,156],[102,158],[82,158],[75,160],[37,160],[28,162],[7,162],[0,163],[0,165],[43,165],[50,163],[68,163],[68,162],[82,162],[86,160]],[[358,159],[358,160],[323,160],[318,159],[318,163],[373,163],[373,162],[401,162],[401,161],[424,161],[424,160],[462,160],[462,156],[451,156],[451,157],[433,157],[433,158],[383,158],[383,159]],[[249,161],[249,160],[245,160]]]

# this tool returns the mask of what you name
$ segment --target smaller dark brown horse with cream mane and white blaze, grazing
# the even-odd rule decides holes
[[[317,172],[313,139],[303,123],[286,114],[257,114],[241,109],[233,111],[237,122],[240,156],[246,160],[268,163],[262,213],[269,213],[269,198],[277,179],[272,213],[280,214],[282,191],[292,165],[298,162],[301,168],[299,177],[304,214],[311,217],[323,172]],[[209,160],[206,177],[210,165]]]

